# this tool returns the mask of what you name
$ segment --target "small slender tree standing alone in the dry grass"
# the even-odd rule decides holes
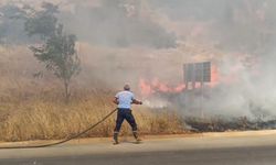
[[[34,56],[45,64],[46,69],[63,81],[65,100],[70,98],[70,82],[73,76],[79,73],[79,58],[75,51],[76,36],[63,33],[62,25],[59,26],[41,47],[32,46]]]

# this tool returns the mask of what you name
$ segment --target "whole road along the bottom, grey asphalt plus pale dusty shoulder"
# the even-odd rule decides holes
[[[276,132],[0,151],[1,165],[275,165]]]

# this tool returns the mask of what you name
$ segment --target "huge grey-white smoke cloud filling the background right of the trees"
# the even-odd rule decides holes
[[[120,89],[129,82],[148,106],[173,107],[184,114],[274,118],[273,0],[51,2],[60,4],[60,21],[79,41],[78,85],[94,80],[93,86]],[[192,99],[185,90],[157,90],[147,97],[140,92],[141,79],[158,79],[167,88],[182,86],[182,65],[206,61],[217,68],[216,80],[197,89]]]

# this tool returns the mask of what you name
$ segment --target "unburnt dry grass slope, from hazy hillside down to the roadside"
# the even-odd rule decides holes
[[[57,140],[76,134],[116,108],[115,91],[98,81],[74,80],[70,103],[64,103],[62,84],[43,70],[25,47],[0,48],[0,141]],[[85,66],[84,66],[85,67]],[[85,79],[79,77],[78,79]],[[81,84],[81,85],[79,85]],[[103,90],[105,89],[105,90]],[[134,107],[141,134],[183,133],[183,119],[172,110]],[[85,138],[110,136],[114,114]],[[121,135],[130,134],[124,124]]]

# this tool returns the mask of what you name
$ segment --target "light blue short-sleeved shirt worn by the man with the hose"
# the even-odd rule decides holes
[[[124,90],[115,96],[118,99],[118,108],[130,109],[135,95],[131,91]]]

